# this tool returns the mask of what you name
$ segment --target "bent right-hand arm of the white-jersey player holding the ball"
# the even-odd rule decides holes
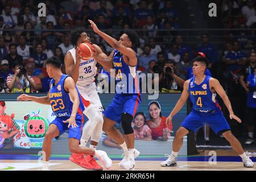
[[[98,63],[100,63],[102,65],[102,67],[107,72],[110,72],[110,69],[113,68],[113,61],[112,61],[112,59],[109,59],[109,57],[96,44],[93,44],[93,48],[94,48],[94,51],[95,51],[95,56],[93,57],[93,59],[96,60]],[[111,53],[112,57],[113,57],[113,52],[114,51],[112,51],[112,53]]]

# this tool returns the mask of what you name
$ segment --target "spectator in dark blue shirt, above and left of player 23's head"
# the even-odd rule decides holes
[[[35,59],[36,68],[46,68],[47,55],[43,53],[41,44],[36,44],[36,52],[31,55]]]

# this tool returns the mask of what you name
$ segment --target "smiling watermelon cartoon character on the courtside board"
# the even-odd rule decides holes
[[[35,114],[34,111],[31,111],[33,116],[25,115],[24,116],[24,131],[27,137],[30,138],[43,138],[44,135],[46,135],[46,131],[48,129],[48,122],[45,118],[40,117],[40,109],[38,110],[38,113]]]

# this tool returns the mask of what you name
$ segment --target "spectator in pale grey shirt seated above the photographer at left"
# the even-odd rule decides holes
[[[23,35],[19,36],[19,46],[17,47],[18,55],[22,56],[24,63],[27,62],[32,53],[32,48],[26,44],[26,37]]]

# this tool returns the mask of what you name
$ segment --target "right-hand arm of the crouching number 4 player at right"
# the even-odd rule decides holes
[[[226,95],[225,90],[223,89],[223,87],[221,86],[220,82],[215,79],[215,78],[210,78],[209,80],[209,84],[210,84],[210,88],[214,88],[214,90],[218,93],[218,95],[222,98],[222,100],[224,101],[224,104],[226,105],[226,107],[229,110],[229,117],[230,119],[236,119],[237,122],[241,123],[241,119],[238,118],[236,115],[234,115],[233,109],[232,109],[232,105],[229,101],[228,96]]]

